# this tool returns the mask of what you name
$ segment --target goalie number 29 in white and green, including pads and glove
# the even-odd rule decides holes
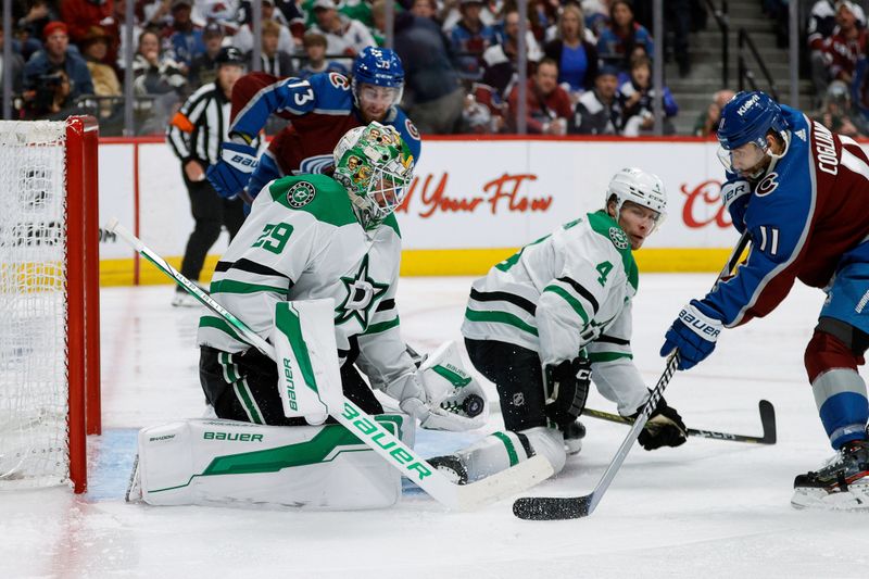
[[[348,131],[335,160],[333,177],[284,177],[256,197],[211,284],[228,313],[200,319],[200,381],[221,419],[142,429],[129,500],[391,506],[401,498],[393,466],[403,458],[390,452],[399,463],[385,461],[327,420],[347,412],[344,397],[408,446],[414,418],[439,430],[483,424],[482,390],[454,344],[417,368],[399,335],[392,212],[413,175],[410,149],[393,127],[371,123]],[[371,387],[402,413],[385,414]]]

